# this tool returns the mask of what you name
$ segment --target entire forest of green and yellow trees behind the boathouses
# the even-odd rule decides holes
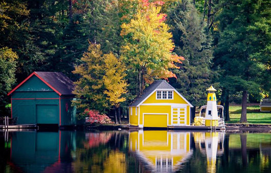
[[[269,0],[1,1],[1,114],[33,71],[61,71],[76,81],[79,117],[115,110],[120,122],[133,98],[165,79],[194,106],[213,85],[225,119],[236,102],[246,122],[247,102],[271,91],[270,43]]]

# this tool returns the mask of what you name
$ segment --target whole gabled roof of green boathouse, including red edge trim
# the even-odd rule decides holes
[[[70,78],[66,77],[62,72],[44,72],[44,71],[34,71],[29,77],[12,89],[8,95],[14,92],[22,84],[24,84],[32,76],[36,76],[51,89],[53,89],[58,95],[73,95],[74,83]]]

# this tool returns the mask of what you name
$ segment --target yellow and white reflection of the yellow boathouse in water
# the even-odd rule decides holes
[[[152,171],[177,171],[192,154],[190,132],[135,131],[129,133],[129,151]]]

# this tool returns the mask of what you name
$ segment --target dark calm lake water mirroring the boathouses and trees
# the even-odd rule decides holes
[[[0,131],[0,154],[0,172],[271,172],[271,135]]]

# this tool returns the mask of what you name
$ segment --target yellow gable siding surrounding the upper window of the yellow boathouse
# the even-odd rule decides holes
[[[143,104],[145,103],[176,103],[176,104],[187,104],[186,101],[180,97],[175,91],[173,91],[173,100],[170,99],[161,99],[161,100],[156,100],[156,91],[151,94],[151,96],[149,96],[147,98],[147,100],[145,102],[143,102]]]

